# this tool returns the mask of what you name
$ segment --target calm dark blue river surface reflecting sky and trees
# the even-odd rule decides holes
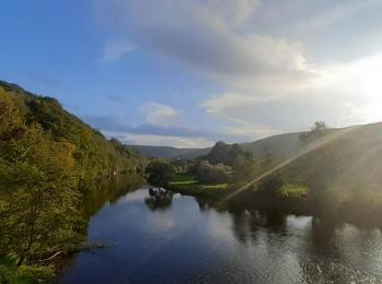
[[[382,234],[311,216],[208,208],[192,197],[106,203],[61,283],[382,283]]]

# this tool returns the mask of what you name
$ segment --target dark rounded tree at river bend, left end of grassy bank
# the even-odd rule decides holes
[[[153,159],[145,169],[146,180],[150,185],[158,188],[167,187],[175,176],[174,166],[165,159]]]

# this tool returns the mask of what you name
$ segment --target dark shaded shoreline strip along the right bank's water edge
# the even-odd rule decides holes
[[[240,192],[227,201],[224,198],[235,192],[232,188],[225,190],[203,190],[201,188],[167,187],[168,190],[183,196],[191,196],[201,199],[208,206],[220,208],[222,210],[259,210],[265,212],[279,212],[283,214],[295,214],[313,216],[324,220],[330,224],[353,224],[363,228],[382,228],[380,216],[381,209],[370,209],[366,205],[355,208],[353,204],[339,204],[335,206],[323,204],[314,199],[274,199],[262,197],[253,191]],[[223,201],[223,202],[220,202]]]

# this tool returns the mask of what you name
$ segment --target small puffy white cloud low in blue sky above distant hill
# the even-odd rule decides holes
[[[179,119],[179,113],[176,109],[153,102],[143,105],[141,113],[145,116],[146,122],[154,126],[175,125]]]

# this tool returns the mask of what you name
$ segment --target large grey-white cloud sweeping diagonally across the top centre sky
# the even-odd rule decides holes
[[[283,91],[305,84],[314,71],[301,46],[244,32],[255,0],[98,0],[98,10],[121,36],[202,71],[229,87]]]

